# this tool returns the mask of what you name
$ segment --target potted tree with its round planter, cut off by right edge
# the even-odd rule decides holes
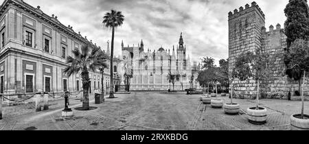
[[[286,52],[286,59],[290,60],[286,65],[287,71],[302,73],[301,113],[290,117],[291,130],[309,130],[309,115],[304,114],[304,86],[309,72],[309,42],[302,39],[295,40]]]

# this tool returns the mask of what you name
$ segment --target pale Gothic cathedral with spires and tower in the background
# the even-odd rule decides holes
[[[185,91],[190,88],[190,77],[195,75],[194,86],[196,86],[196,71],[192,71],[192,63],[184,45],[183,36],[179,38],[179,45],[176,49],[159,49],[144,51],[144,43],[136,47],[124,47],[122,42],[122,69],[127,75],[132,75],[130,79],[131,91],[167,91],[172,84],[168,82],[168,73],[179,74],[180,80],[174,85],[175,91]],[[194,63],[196,67],[196,62]],[[196,68],[193,68],[196,70]],[[194,73],[192,73],[194,72]],[[198,87],[199,88],[199,87]]]

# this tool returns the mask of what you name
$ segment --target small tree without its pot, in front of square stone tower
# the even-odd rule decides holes
[[[256,109],[259,109],[260,81],[267,78],[268,69],[268,53],[262,51],[261,48],[255,50],[255,53],[247,51],[236,58],[235,70],[233,75],[240,80],[249,80],[251,77],[257,82],[256,93]]]

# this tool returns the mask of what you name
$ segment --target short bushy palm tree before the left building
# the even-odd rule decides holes
[[[88,45],[83,45],[81,51],[76,48],[72,51],[72,53],[73,57],[67,57],[67,63],[69,66],[65,68],[64,73],[71,76],[73,73],[78,73],[79,71],[82,72],[82,108],[84,110],[89,110],[89,69],[91,71],[95,71],[96,69],[104,66],[106,61],[102,58],[98,58],[98,48],[91,48]]]

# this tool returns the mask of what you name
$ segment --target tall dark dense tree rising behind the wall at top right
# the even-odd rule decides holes
[[[307,0],[289,0],[284,9],[286,14],[285,34],[288,47],[301,38],[309,40],[309,7]]]

